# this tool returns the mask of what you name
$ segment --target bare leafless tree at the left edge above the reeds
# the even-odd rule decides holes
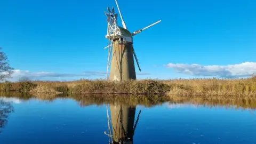
[[[7,55],[2,51],[2,47],[0,47],[0,81],[5,81],[6,78],[10,77],[13,69],[10,67]]]

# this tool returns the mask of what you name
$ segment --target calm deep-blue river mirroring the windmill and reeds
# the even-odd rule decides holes
[[[253,103],[0,97],[0,143],[256,143]],[[103,102],[102,102],[103,101]],[[149,102],[150,103],[150,102]],[[152,103],[152,102],[151,102]],[[236,103],[244,103],[242,106]],[[252,105],[250,107],[250,105]],[[109,117],[107,117],[107,110]],[[108,121],[109,120],[109,121]],[[113,138],[109,139],[110,133]],[[114,127],[114,131],[113,131]]]

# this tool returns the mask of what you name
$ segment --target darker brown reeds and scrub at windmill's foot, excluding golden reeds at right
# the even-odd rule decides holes
[[[72,82],[15,82],[1,83],[1,91],[18,91],[32,93],[97,93],[97,94],[165,94],[170,86],[163,82],[126,81],[108,82],[103,80]]]

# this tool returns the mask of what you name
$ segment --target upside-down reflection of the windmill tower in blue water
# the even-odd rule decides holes
[[[107,114],[109,120],[109,143],[132,144],[133,135],[139,121],[141,110],[139,111],[137,121],[135,123],[135,106],[110,105],[110,111],[111,118],[109,114]]]

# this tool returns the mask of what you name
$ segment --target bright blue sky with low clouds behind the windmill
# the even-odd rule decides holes
[[[148,73],[137,77],[167,79],[256,73],[256,1],[118,3],[131,31],[162,20],[134,36],[142,73]],[[17,69],[13,77],[104,77],[108,54],[103,49],[108,45],[104,11],[107,6],[114,6],[117,12],[114,0],[3,0],[0,5],[0,46],[11,66]],[[90,73],[84,76],[84,71]],[[91,75],[93,71],[98,74]]]

